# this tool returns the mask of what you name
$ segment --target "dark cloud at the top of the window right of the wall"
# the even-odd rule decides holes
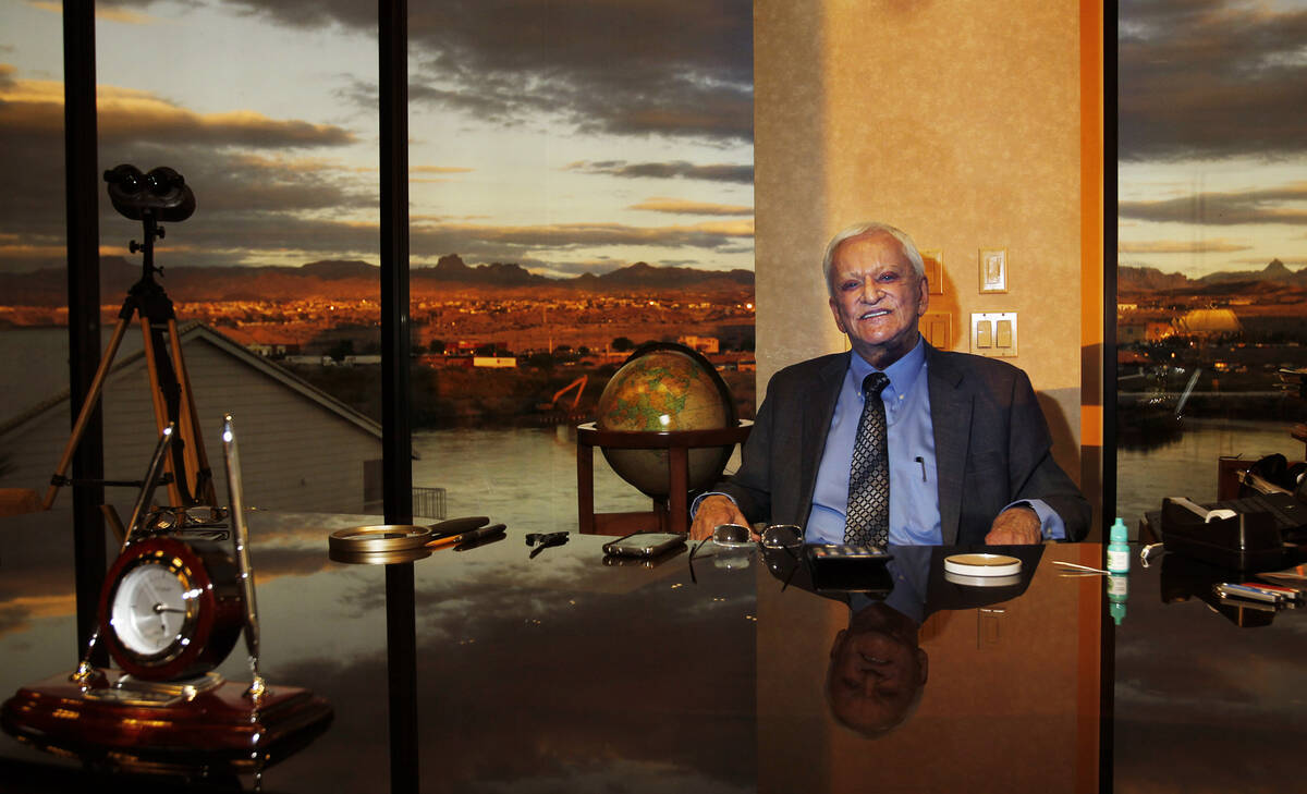
[[[1117,13],[1121,159],[1307,153],[1307,9],[1127,0]]]

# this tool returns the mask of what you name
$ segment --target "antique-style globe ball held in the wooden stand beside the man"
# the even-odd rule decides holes
[[[655,342],[639,347],[613,375],[596,406],[599,430],[676,432],[736,426],[735,400],[712,364],[684,345]],[[689,451],[691,491],[712,484],[733,445]],[[603,447],[617,474],[646,495],[670,490],[665,449]]]

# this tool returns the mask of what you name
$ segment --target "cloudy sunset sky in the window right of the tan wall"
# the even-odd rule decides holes
[[[1307,265],[1307,3],[1120,3],[1119,261]]]

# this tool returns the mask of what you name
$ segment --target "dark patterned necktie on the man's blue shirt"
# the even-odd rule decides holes
[[[848,513],[844,542],[850,546],[881,546],[890,535],[890,456],[885,437],[885,402],[881,392],[890,385],[884,372],[863,380],[863,415],[848,470]]]

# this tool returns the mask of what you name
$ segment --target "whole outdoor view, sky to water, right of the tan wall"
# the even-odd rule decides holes
[[[1119,7],[1117,513],[1302,460],[1302,3]]]

